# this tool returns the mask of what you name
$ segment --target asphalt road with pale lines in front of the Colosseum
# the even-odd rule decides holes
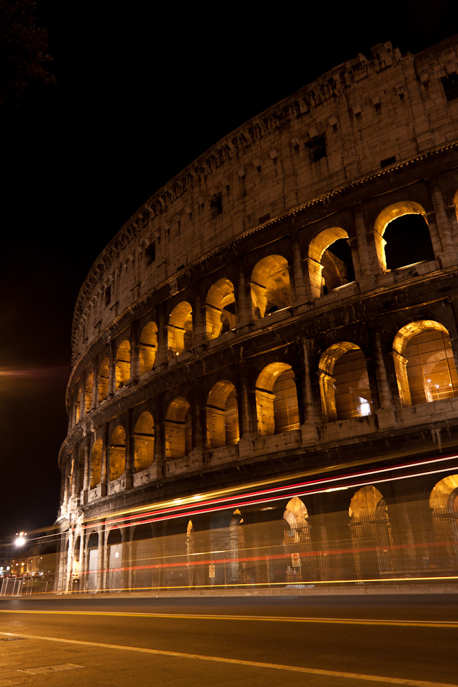
[[[299,683],[458,685],[458,595],[0,599],[0,687]]]

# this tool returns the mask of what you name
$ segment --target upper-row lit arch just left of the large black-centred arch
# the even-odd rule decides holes
[[[352,251],[348,234],[341,227],[320,232],[308,247],[308,273],[313,298],[354,281]]]

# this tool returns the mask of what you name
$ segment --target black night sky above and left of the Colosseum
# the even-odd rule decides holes
[[[58,84],[0,113],[5,539],[56,518],[73,306],[129,216],[220,137],[331,67],[381,41],[418,52],[458,32],[453,1],[348,3],[345,14],[293,3],[268,15],[262,4],[143,4],[113,14],[108,3],[38,0]]]

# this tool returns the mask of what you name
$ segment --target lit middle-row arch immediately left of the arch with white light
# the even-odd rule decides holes
[[[256,381],[257,431],[260,435],[299,429],[297,387],[291,365],[271,363]]]

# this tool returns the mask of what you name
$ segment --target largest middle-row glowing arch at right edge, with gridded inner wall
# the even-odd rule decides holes
[[[458,395],[457,370],[447,337],[442,324],[425,319],[407,324],[396,334],[393,357],[403,405]]]

